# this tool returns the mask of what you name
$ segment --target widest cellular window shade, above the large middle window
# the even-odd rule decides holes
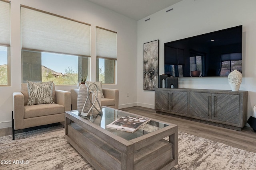
[[[21,7],[22,49],[90,57],[90,24]]]

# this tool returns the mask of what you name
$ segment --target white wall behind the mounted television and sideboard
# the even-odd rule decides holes
[[[243,25],[240,90],[248,91],[248,117],[256,104],[256,0],[183,0],[138,21],[138,106],[154,108],[154,92],[143,90],[143,44],[160,40],[159,74],[164,73],[164,43]],[[173,8],[172,11],[167,12]],[[146,19],[150,20],[146,21]],[[179,88],[231,90],[227,77],[179,78]]]

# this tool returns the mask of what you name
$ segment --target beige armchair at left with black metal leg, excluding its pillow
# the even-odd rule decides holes
[[[28,88],[21,84],[21,92],[14,92],[12,112],[12,139],[15,130],[48,125],[65,121],[65,111],[71,110],[71,93],[52,88],[54,104],[37,104],[26,106],[28,103]]]

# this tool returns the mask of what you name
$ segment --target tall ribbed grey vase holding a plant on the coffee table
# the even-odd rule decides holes
[[[81,83],[81,85],[78,88],[78,94],[77,94],[77,110],[78,110],[79,115],[82,113],[82,109],[84,107],[84,102],[85,102],[87,96],[88,96],[87,87],[86,87],[85,83]],[[87,100],[85,108],[88,108],[88,107],[90,108],[89,100]]]

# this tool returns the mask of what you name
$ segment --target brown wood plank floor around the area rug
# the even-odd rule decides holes
[[[256,153],[256,133],[250,127],[244,127],[242,131],[236,131],[196,121],[171,117],[169,115],[158,114],[154,109],[140,106],[128,107],[120,110],[152,119],[158,119],[167,123],[173,123],[178,125],[179,131]],[[11,134],[12,128],[0,129],[0,137]]]

